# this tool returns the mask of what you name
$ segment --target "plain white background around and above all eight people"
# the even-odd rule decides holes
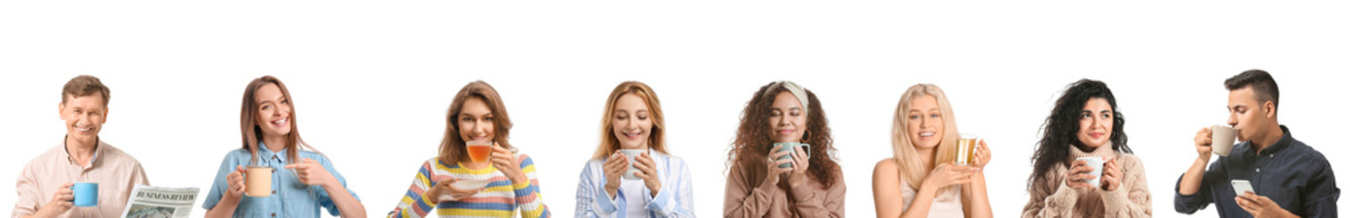
[[[4,1],[0,176],[18,176],[59,143],[61,86],[92,74],[112,89],[104,141],[138,157],[155,186],[209,188],[220,159],[239,148],[244,85],[277,75],[290,87],[304,139],[378,217],[436,155],[454,93],[485,79],[514,120],[512,141],[539,164],[544,203],[572,217],[605,97],[636,79],[660,96],[670,151],[695,170],[697,214],[720,217],[726,149],[744,104],[759,86],[791,79],[825,106],[849,187],[846,214],[871,217],[871,171],[891,153],[899,96],[929,82],[948,92],[961,132],[990,140],[995,214],[1017,217],[1056,94],[1094,78],[1112,87],[1127,118],[1153,214],[1183,217],[1172,190],[1196,156],[1191,139],[1224,122],[1222,82],[1243,70],[1273,73],[1280,121],[1296,139],[1346,153],[1338,140],[1350,106],[1346,9],[1227,1]],[[14,186],[0,187],[8,209]]]

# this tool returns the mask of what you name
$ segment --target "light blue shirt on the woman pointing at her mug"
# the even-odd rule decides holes
[[[319,207],[327,209],[328,214],[333,217],[340,214],[338,211],[338,205],[333,205],[332,198],[328,198],[328,191],[324,191],[320,186],[300,183],[294,171],[285,168],[288,164],[286,149],[273,152],[269,151],[267,145],[263,145],[262,143],[258,143],[258,166],[273,167],[275,170],[271,174],[271,190],[274,191],[271,196],[263,198],[243,195],[243,199],[239,201],[239,207],[235,209],[234,217],[316,218],[320,215]],[[342,183],[343,188],[347,187],[347,179],[344,179],[342,174],[338,174],[338,170],[333,168],[332,161],[328,161],[328,157],[310,151],[300,151],[300,153],[296,153],[296,157],[300,160],[313,159],[315,161],[319,161],[319,164],[324,166],[324,170],[332,174],[333,178],[338,178],[338,182]],[[211,210],[212,207],[216,207],[216,203],[220,203],[220,198],[224,196],[225,191],[230,188],[228,182],[225,182],[225,176],[230,175],[230,172],[234,172],[236,166],[247,168],[250,159],[252,159],[252,153],[250,153],[248,149],[235,149],[225,153],[225,160],[220,161],[220,170],[216,171],[216,179],[212,182],[211,190],[207,190],[207,201],[201,203],[202,209]],[[300,163],[300,160],[294,160],[294,163]],[[347,190],[347,192],[351,192],[351,196],[356,198],[356,192],[352,192],[351,190]],[[360,201],[360,198],[356,198],[356,201]]]

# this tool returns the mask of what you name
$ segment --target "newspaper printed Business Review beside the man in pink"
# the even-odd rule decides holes
[[[122,218],[180,218],[197,205],[196,187],[155,187],[136,184]]]

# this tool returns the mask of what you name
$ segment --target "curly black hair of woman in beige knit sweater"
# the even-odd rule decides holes
[[[1126,153],[1134,152],[1125,144],[1129,140],[1125,136],[1125,116],[1120,113],[1120,108],[1115,105],[1115,96],[1111,94],[1111,89],[1102,81],[1080,79],[1064,90],[1060,100],[1054,101],[1050,117],[1045,117],[1045,124],[1041,128],[1041,141],[1037,143],[1035,152],[1031,156],[1033,174],[1031,178],[1027,178],[1027,187],[1035,184],[1037,178],[1044,178],[1045,174],[1049,174],[1050,168],[1054,168],[1054,164],[1068,166],[1071,163],[1071,145],[1083,147],[1083,143],[1077,137],[1079,114],[1088,100],[1092,98],[1103,98],[1111,104],[1111,113],[1114,113],[1111,116],[1114,124],[1111,125],[1111,149]]]

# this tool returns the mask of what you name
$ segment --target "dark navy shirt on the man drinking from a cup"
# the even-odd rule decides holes
[[[1233,191],[1230,182],[1243,179],[1251,182],[1257,195],[1270,198],[1289,213],[1300,217],[1336,217],[1341,188],[1336,188],[1331,163],[1322,152],[1293,140],[1289,128],[1280,125],[1280,129],[1284,131],[1284,137],[1260,155],[1253,151],[1251,141],[1245,141],[1234,145],[1228,156],[1219,156],[1204,171],[1200,191],[1193,195],[1181,195],[1179,178],[1176,210],[1193,214],[1214,203],[1219,207],[1219,217],[1251,217],[1233,201],[1238,194]]]

